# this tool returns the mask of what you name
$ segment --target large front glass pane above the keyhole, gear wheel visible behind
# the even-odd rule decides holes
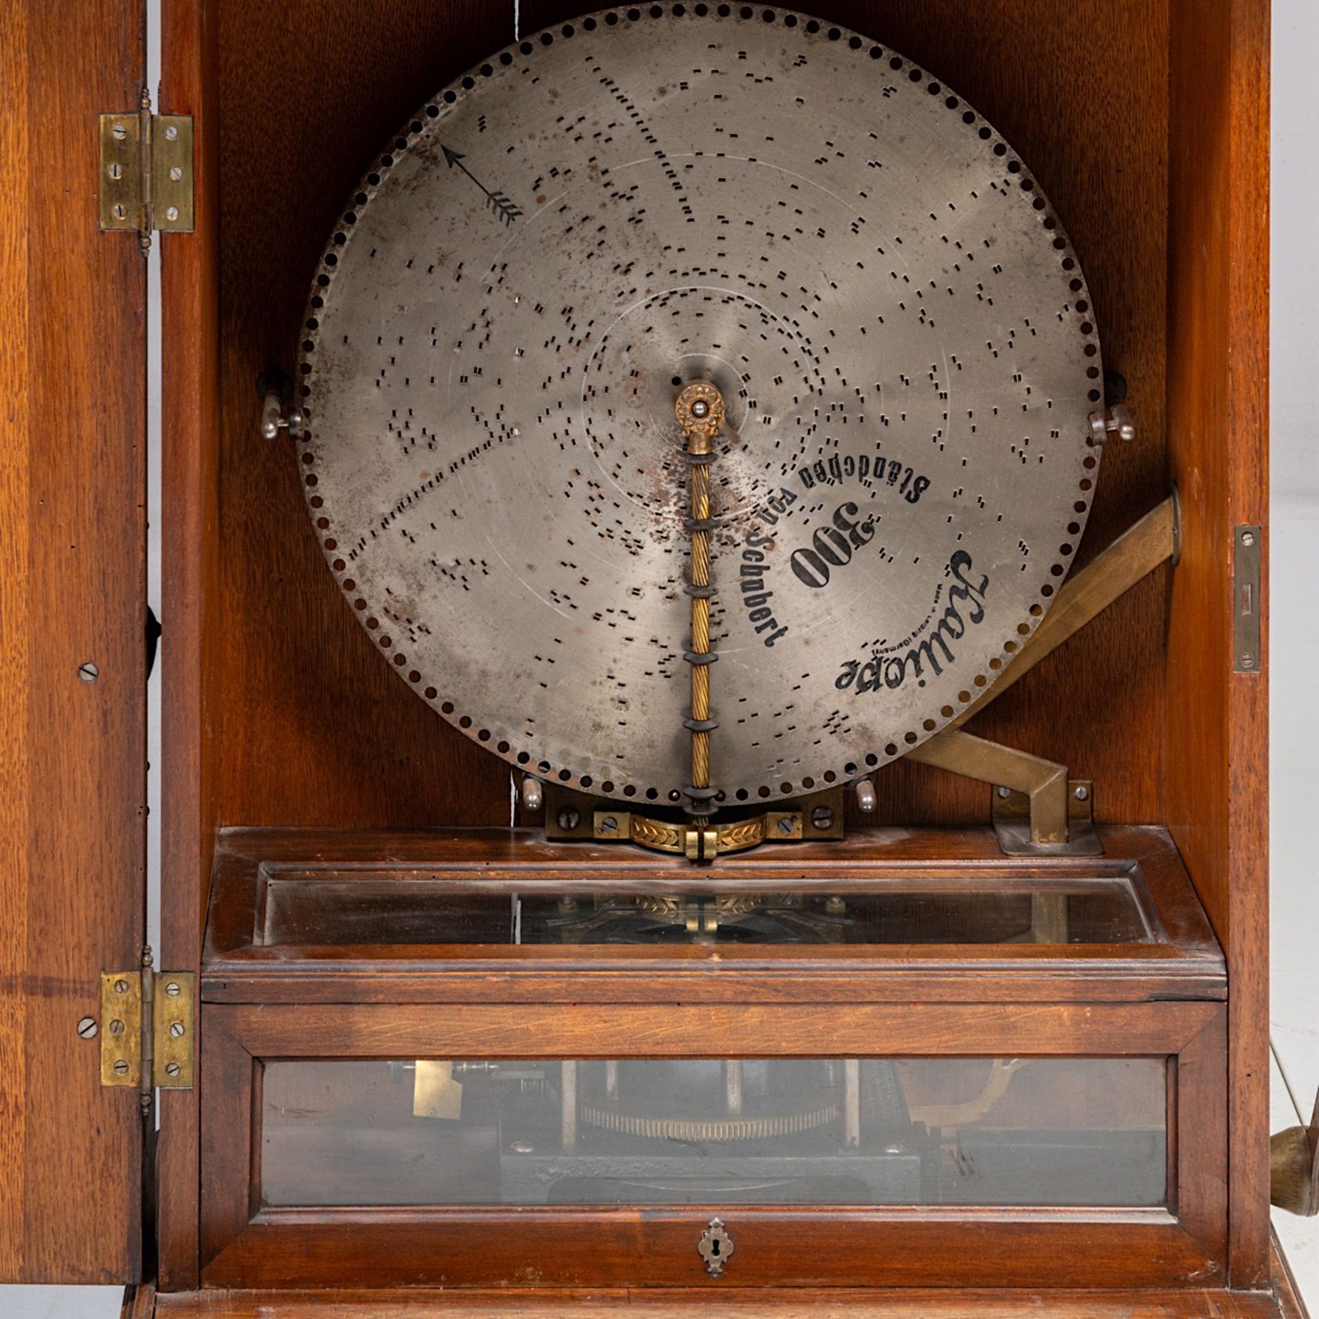
[[[272,1062],[261,1198],[1158,1206],[1162,1058]]]

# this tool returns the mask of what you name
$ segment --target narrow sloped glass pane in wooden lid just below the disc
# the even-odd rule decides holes
[[[848,881],[845,893],[509,893],[433,876],[278,872],[262,944],[1151,943],[1128,876]]]

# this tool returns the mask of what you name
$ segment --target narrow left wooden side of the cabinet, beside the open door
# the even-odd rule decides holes
[[[161,109],[193,116],[195,231],[160,235],[162,702],[160,964],[197,971],[215,835],[219,615],[219,171],[215,16],[161,5]],[[158,1261],[165,1289],[197,1283],[198,1091],[160,1092]]]

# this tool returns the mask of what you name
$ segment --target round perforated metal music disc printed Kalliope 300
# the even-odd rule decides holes
[[[732,431],[729,803],[864,773],[979,696],[1097,464],[1087,291],[1012,149],[868,38],[724,8],[579,18],[423,106],[327,244],[301,364],[311,517],[402,681],[637,801],[689,778],[683,383]]]

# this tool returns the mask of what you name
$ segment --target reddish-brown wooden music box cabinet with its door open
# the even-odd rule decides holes
[[[55,32],[20,7],[3,58],[41,113],[4,129],[28,161],[0,265],[26,346],[0,356],[20,455],[0,489],[0,710],[20,752],[0,810],[26,839],[0,873],[21,1115],[0,1171],[22,1188],[0,1196],[5,1277],[137,1281],[154,1144],[144,1312],[678,1314],[719,1290],[785,1314],[1008,1314],[1042,1293],[1078,1315],[1285,1304],[1266,630],[1248,667],[1233,658],[1240,528],[1260,529],[1268,580],[1268,0],[816,9],[958,87],[1066,220],[1140,422],[1105,458],[1079,565],[1177,491],[1175,567],[971,725],[1093,782],[1104,856],[1006,860],[983,786],[904,760],[876,777],[881,826],[720,863],[718,892],[785,898],[741,942],[608,925],[658,894],[699,933],[716,888],[678,860],[546,844],[510,807],[506,766],[418,703],[344,607],[253,389],[295,359],[371,153],[506,44],[510,15],[165,0],[160,109],[193,119],[195,231],[157,237],[157,962],[197,976],[198,1039],[194,1087],[158,1092],[144,1142],[136,1091],[100,1087],[78,1030],[144,930],[145,276],[132,235],[96,230],[92,145],[98,112],[136,104],[141,13],[107,0]],[[524,32],[572,16],[521,7]],[[565,900],[605,913],[594,933]],[[851,933],[782,934],[807,917],[818,934],[828,901]],[[901,1080],[897,1136],[867,1125],[884,1078]],[[714,1087],[714,1108],[624,1130],[628,1086],[653,1104]],[[799,1145],[737,1146],[718,1122],[748,1096],[806,1124]],[[666,1163],[691,1121],[716,1124],[699,1128],[712,1153]],[[417,1161],[447,1173],[415,1188]],[[91,1178],[95,1206],[70,1190]],[[712,1219],[732,1241],[719,1270]]]

